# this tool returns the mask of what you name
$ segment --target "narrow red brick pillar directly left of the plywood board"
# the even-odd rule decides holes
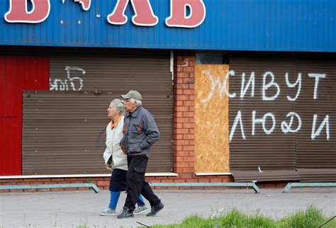
[[[174,56],[174,172],[194,178],[195,55]]]

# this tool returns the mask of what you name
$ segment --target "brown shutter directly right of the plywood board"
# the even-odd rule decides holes
[[[294,102],[288,101],[286,96],[295,95],[295,89],[286,86],[285,74],[295,74],[295,64],[291,59],[281,57],[232,57],[230,70],[235,76],[230,76],[230,93],[235,92],[235,98],[230,98],[230,130],[237,113],[242,113],[242,123],[245,139],[241,136],[240,125],[230,142],[230,169],[235,181],[284,181],[297,180],[295,134],[284,134],[281,131],[281,121],[286,114],[295,109]],[[242,73],[245,73],[245,85],[250,79],[251,72],[255,74],[254,97],[251,97],[251,87],[240,98]],[[262,81],[266,72],[274,74],[274,81],[280,86],[280,94],[274,101],[262,101]],[[267,81],[270,77],[267,76]],[[267,90],[267,96],[273,96],[276,89]],[[252,111],[256,111],[256,118],[262,118],[266,113],[272,113],[276,124],[274,131],[267,135],[261,123],[255,124],[252,135]],[[267,118],[265,127],[272,126],[271,118]],[[261,172],[259,171],[261,170]]]

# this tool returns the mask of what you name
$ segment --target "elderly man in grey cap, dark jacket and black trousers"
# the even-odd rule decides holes
[[[145,181],[147,161],[150,158],[150,147],[159,139],[159,130],[152,114],[142,108],[142,97],[138,91],[129,91],[121,95],[125,99],[125,115],[121,148],[127,154],[128,172],[127,197],[123,211],[118,219],[133,217],[135,203],[139,195],[143,195],[152,207],[147,216],[155,216],[164,207],[150,185]]]

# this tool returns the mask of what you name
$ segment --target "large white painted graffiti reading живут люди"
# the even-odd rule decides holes
[[[201,103],[207,103],[208,101],[211,101],[211,98],[215,95],[216,89],[218,89],[218,95],[220,98],[223,96],[228,96],[229,98],[239,98],[240,101],[244,100],[245,96],[247,96],[247,92],[250,90],[250,98],[254,98],[254,91],[255,91],[255,73],[250,73],[250,78],[246,79],[245,72],[242,73],[241,76],[241,86],[240,86],[240,93],[236,92],[229,92],[228,90],[228,79],[231,76],[235,76],[235,72],[233,70],[230,70],[225,74],[224,79],[221,80],[220,76],[214,76],[209,71],[203,71],[203,74],[206,75],[207,79],[211,82],[211,91],[208,93],[206,98],[203,98],[201,100]],[[320,81],[322,79],[325,79],[327,77],[326,74],[316,74],[316,73],[308,73],[307,74],[308,79],[315,80],[314,88],[313,88],[313,94],[312,98],[313,100],[318,99],[318,86],[320,84]],[[296,77],[295,82],[293,80],[290,81],[289,79],[289,73],[286,73],[284,75],[286,86],[289,89],[295,89],[296,88],[296,95],[295,96],[286,96],[288,101],[296,101],[301,93],[301,86],[303,81],[303,76],[301,73],[298,73],[298,76]],[[269,93],[270,89],[273,91],[273,93]],[[273,72],[265,72],[262,75],[262,85],[261,85],[261,99],[262,101],[276,101],[277,98],[279,98],[279,95],[281,94],[281,87],[275,80],[275,76]],[[274,129],[276,127],[276,115],[274,113],[264,113],[262,117],[258,117],[256,110],[251,110],[252,116],[249,123],[252,125],[252,132],[251,135],[256,135],[255,128],[257,125],[262,126],[262,130],[266,135],[271,135],[272,132],[274,132]],[[295,113],[293,111],[290,111],[287,113],[286,116],[281,117],[284,118],[284,120],[279,123],[279,126],[281,127],[281,131],[284,132],[284,134],[287,133],[296,133],[301,130],[302,126],[302,120],[300,115],[298,113]],[[312,129],[310,138],[312,140],[316,139],[320,135],[321,132],[323,132],[323,129],[325,129],[326,133],[326,139],[330,139],[330,125],[329,125],[329,115],[319,115],[313,114],[312,115]],[[320,121],[320,124],[318,124],[318,120]],[[267,122],[270,123],[270,125],[267,125]],[[246,120],[245,120],[246,123]],[[267,128],[267,126],[270,126]],[[237,112],[237,115],[235,116],[235,120],[233,121],[233,125],[230,130],[230,141],[233,139],[233,136],[235,135],[235,132],[237,131],[237,127],[240,128],[240,135],[242,139],[246,139],[245,130],[244,130],[244,122],[242,120],[242,111],[239,110]]]

